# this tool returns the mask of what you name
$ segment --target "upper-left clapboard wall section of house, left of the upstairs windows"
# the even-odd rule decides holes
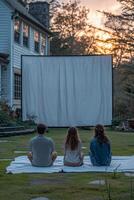
[[[0,0],[0,53],[10,53],[11,9]]]

